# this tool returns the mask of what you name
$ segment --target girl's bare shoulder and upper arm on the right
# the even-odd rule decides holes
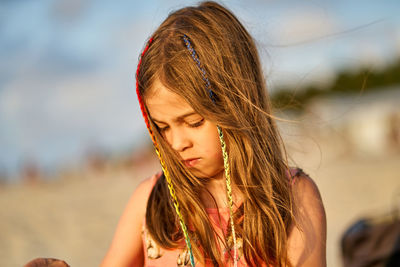
[[[305,175],[293,185],[297,225],[289,234],[288,255],[294,266],[326,266],[326,215],[314,181]]]

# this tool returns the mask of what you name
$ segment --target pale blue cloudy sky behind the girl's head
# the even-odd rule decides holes
[[[135,95],[139,53],[169,12],[196,3],[1,1],[0,176],[149,142]],[[400,57],[397,0],[222,3],[255,38],[270,91]]]

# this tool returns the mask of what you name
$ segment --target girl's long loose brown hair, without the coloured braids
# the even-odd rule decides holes
[[[186,35],[207,73],[215,103],[185,47]],[[152,35],[137,74],[146,99],[156,80],[183,97],[224,133],[232,182],[243,196],[234,215],[236,235],[250,266],[288,266],[287,236],[294,222],[288,166],[277,131],[254,40],[225,7],[203,2],[171,13]],[[171,174],[181,213],[189,223],[193,252],[204,263],[223,265],[218,237],[199,202],[206,181],[191,174],[157,127],[150,124]],[[183,234],[161,177],[147,203],[150,235],[165,248],[181,248]],[[228,247],[225,240],[222,240]]]

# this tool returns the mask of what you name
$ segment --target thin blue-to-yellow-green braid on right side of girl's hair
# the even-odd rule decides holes
[[[215,103],[215,95],[214,95],[214,92],[210,88],[211,87],[210,81],[207,78],[205,69],[201,66],[200,59],[197,56],[196,51],[194,50],[194,48],[189,40],[189,37],[185,34],[185,35],[183,35],[182,38],[183,38],[183,41],[185,42],[186,48],[190,52],[190,55],[192,56],[193,60],[196,62],[197,67],[201,71],[202,78],[206,83],[206,89],[208,90],[211,100]],[[237,261],[238,261],[237,242],[236,242],[235,224],[233,221],[233,198],[232,198],[232,186],[231,186],[229,158],[228,158],[228,153],[226,151],[226,143],[224,140],[224,134],[222,132],[222,129],[220,126],[217,126],[217,129],[218,129],[219,140],[221,143],[222,155],[223,155],[223,159],[224,159],[224,170],[225,170],[225,178],[226,178],[226,195],[227,195],[228,204],[229,204],[229,217],[230,217],[230,221],[231,221],[232,239],[233,239],[233,246],[234,246],[233,262],[234,262],[234,266],[237,267]]]

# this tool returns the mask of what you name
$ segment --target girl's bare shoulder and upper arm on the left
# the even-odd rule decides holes
[[[154,179],[144,180],[132,194],[101,267],[143,266],[142,224]]]

